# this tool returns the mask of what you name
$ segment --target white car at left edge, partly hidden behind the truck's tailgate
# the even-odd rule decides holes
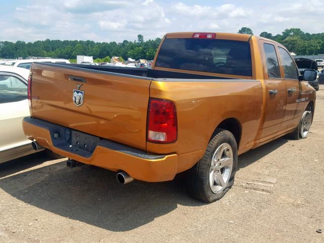
[[[28,75],[27,69],[0,65],[0,163],[36,152],[22,129],[30,115]]]

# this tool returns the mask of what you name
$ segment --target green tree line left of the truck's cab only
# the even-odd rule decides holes
[[[144,42],[143,35],[139,34],[137,41],[93,42],[93,41],[59,41],[46,39],[36,42],[0,42],[1,58],[18,57],[53,57],[75,59],[76,55],[93,56],[97,61],[109,61],[112,56],[128,57],[135,60],[154,58],[161,39],[149,39]]]

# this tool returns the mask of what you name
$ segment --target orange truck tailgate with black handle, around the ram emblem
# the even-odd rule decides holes
[[[31,70],[32,116],[146,149],[149,78],[55,64]],[[84,92],[83,104],[73,102],[73,90]]]

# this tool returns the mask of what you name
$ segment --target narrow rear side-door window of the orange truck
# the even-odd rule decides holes
[[[270,44],[263,44],[266,63],[267,63],[267,72],[269,77],[280,77],[280,69],[278,64],[278,57],[275,52],[275,48]]]

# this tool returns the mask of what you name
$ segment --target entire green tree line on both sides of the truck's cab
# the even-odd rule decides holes
[[[242,27],[238,33],[253,34],[248,27]],[[273,39],[286,46],[290,52],[297,55],[324,54],[324,33],[305,33],[299,28],[285,29],[281,34],[272,35],[262,32],[262,37]],[[50,40],[36,42],[0,42],[1,58],[18,57],[53,57],[75,59],[76,55],[93,56],[97,62],[109,62],[112,56],[120,56],[127,60],[128,57],[135,60],[154,58],[156,49],[161,41],[160,38],[144,41],[143,35],[139,34],[134,42],[93,42],[93,41],[60,41]]]

